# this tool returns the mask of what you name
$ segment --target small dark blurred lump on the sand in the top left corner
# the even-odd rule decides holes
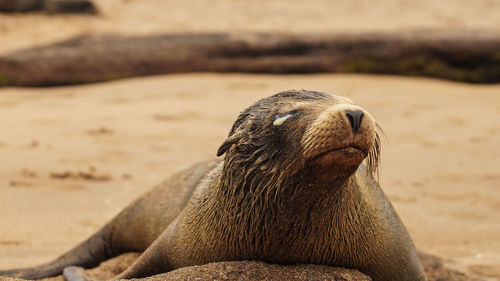
[[[0,0],[0,12],[45,11],[48,13],[95,14],[90,0]]]

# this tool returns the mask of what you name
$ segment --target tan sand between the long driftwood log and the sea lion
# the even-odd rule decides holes
[[[382,187],[417,247],[500,280],[500,85],[355,75],[1,89],[0,268],[61,254],[168,174],[215,157],[239,111],[290,88],[370,111],[387,136]]]

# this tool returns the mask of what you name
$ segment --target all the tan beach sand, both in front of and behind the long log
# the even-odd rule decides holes
[[[198,1],[95,2],[98,17],[0,15],[0,53],[83,32],[500,31],[500,2],[486,0],[384,0],[378,10],[365,1],[213,1],[209,11]],[[500,280],[500,85],[371,75],[0,88],[0,268],[60,255],[169,174],[214,158],[240,111],[287,89],[348,96],[371,112],[385,132],[381,185],[417,248]]]

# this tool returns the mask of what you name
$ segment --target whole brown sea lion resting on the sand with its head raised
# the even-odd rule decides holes
[[[351,100],[281,92],[239,115],[217,151],[223,160],[175,174],[58,259],[0,275],[41,278],[144,251],[116,278],[262,260],[355,268],[374,281],[426,280],[375,180],[379,153],[375,120]]]

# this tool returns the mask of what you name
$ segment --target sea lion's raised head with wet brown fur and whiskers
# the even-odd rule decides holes
[[[240,185],[280,184],[307,174],[345,179],[366,159],[377,169],[380,141],[373,117],[350,99],[291,90],[261,99],[235,121],[217,155]],[[233,179],[234,181],[234,179]]]

